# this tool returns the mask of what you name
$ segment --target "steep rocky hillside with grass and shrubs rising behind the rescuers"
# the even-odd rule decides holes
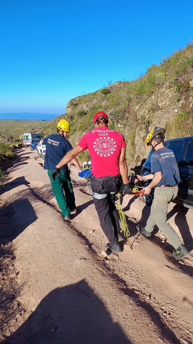
[[[141,165],[149,153],[145,138],[155,126],[166,128],[166,139],[193,135],[193,45],[152,65],[131,82],[117,81],[94,93],[71,99],[66,114],[44,127],[43,136],[56,131],[60,118],[70,122],[70,142],[77,144],[93,128],[93,115],[105,111],[110,127],[123,133],[130,168]],[[85,155],[86,154],[86,155]],[[88,158],[88,152],[79,159]]]

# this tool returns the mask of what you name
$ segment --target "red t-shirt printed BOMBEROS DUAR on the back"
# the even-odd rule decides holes
[[[107,127],[92,129],[82,136],[78,145],[88,149],[92,161],[92,174],[96,178],[120,174],[121,149],[126,147],[123,135]]]

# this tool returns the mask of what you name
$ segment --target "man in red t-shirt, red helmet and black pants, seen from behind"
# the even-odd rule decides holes
[[[109,119],[105,112],[97,112],[93,117],[93,122],[94,129],[84,134],[77,146],[61,159],[52,171],[51,178],[55,180],[55,176],[62,166],[74,159],[80,152],[89,150],[92,161],[90,183],[93,201],[101,228],[109,240],[106,248],[114,253],[120,253],[119,242],[123,240],[123,237],[120,233],[115,195],[121,188],[121,177],[123,192],[131,193],[125,160],[126,143],[120,132],[109,129]]]

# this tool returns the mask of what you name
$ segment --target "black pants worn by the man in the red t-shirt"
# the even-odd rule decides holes
[[[115,195],[121,188],[120,175],[95,178],[91,175],[91,189],[101,228],[111,245],[117,244],[121,230],[115,206]]]

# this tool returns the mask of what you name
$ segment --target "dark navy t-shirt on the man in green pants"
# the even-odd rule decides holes
[[[72,149],[70,142],[58,134],[47,136],[44,144],[46,145],[44,170],[54,170],[60,160]],[[68,170],[68,165],[62,166],[60,170]]]

